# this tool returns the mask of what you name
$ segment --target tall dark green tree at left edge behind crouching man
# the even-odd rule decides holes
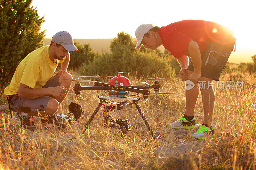
[[[20,61],[43,46],[44,17],[39,18],[32,0],[0,1],[0,73],[11,77]],[[3,71],[2,71],[3,68]]]

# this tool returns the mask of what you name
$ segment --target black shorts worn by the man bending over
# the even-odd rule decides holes
[[[228,45],[221,45],[215,42],[209,43],[207,49],[201,53],[201,77],[212,78],[212,80],[216,81],[220,80],[220,74],[224,70],[228,57],[234,49],[236,39],[235,37],[232,37],[232,39],[233,42],[231,41]],[[192,61],[189,63],[187,70],[194,71]]]

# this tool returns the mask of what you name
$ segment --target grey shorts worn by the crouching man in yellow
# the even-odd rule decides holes
[[[58,74],[52,76],[42,88],[59,86]],[[18,94],[8,95],[10,100],[11,110],[14,112],[36,112],[45,111],[47,103],[52,99],[52,95],[39,97],[36,99],[19,98]]]

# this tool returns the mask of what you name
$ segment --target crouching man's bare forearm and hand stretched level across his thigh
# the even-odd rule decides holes
[[[36,99],[38,97],[52,95],[54,97],[65,97],[67,88],[64,86],[48,87],[42,89],[33,89],[27,85],[20,83],[18,90],[19,98]]]

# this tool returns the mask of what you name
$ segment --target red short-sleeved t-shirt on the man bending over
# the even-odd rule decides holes
[[[158,33],[165,49],[175,58],[188,55],[188,43],[197,42],[200,52],[207,49],[210,41],[227,39],[232,31],[215,22],[203,20],[183,20],[159,28]]]

